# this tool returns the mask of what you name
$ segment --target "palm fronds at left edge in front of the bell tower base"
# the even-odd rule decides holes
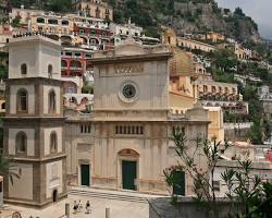
[[[21,171],[16,172],[17,167],[14,165],[11,158],[0,154],[0,175],[8,175],[13,184],[13,178],[20,179]]]

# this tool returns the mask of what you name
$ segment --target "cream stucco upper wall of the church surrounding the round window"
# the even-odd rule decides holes
[[[94,108],[96,110],[166,109],[169,106],[168,62],[151,61],[143,64],[144,71],[132,73],[131,76],[116,76],[114,65],[95,69],[95,72],[99,73],[95,73]],[[126,82],[134,82],[137,85],[138,99],[133,104],[125,104],[120,99],[121,87]]]

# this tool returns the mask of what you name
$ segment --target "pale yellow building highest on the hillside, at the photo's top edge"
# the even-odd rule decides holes
[[[109,21],[113,20],[112,8],[101,0],[75,0],[73,7],[86,16]]]

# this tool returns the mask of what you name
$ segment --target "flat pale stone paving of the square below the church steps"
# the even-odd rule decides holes
[[[83,211],[73,214],[74,201],[83,202]],[[85,203],[89,201],[91,214],[85,214]],[[1,209],[0,218],[11,218],[12,213],[20,211],[23,218],[61,218],[65,217],[65,203],[70,203],[71,218],[106,218],[106,207],[110,208],[110,218],[148,218],[148,204],[138,202],[126,202],[90,196],[69,195],[66,199],[55,203],[45,209],[33,209],[5,205]]]

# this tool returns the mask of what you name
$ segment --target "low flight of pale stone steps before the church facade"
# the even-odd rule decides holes
[[[70,190],[70,194],[72,195],[84,195],[90,197],[98,197],[98,198],[108,198],[108,199],[118,199],[118,201],[126,201],[126,202],[137,202],[137,203],[145,203],[147,204],[147,197],[144,196],[135,196],[126,194],[125,192],[119,193],[106,193],[106,192],[95,192],[92,190]]]

